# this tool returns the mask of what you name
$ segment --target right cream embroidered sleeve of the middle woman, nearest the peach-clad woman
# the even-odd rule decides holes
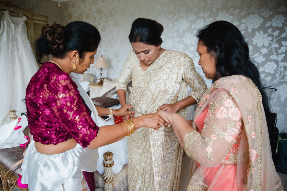
[[[195,70],[192,59],[187,55],[184,58],[183,67],[183,79],[193,90],[189,96],[193,97],[198,104],[199,100],[208,88]]]

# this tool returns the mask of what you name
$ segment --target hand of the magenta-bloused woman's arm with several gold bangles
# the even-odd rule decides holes
[[[155,128],[156,130],[158,130],[162,125],[164,125],[164,120],[160,117],[158,113],[149,113],[136,118],[142,120],[143,127]]]

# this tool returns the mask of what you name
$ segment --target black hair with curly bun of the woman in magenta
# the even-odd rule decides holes
[[[100,40],[98,29],[84,21],[73,21],[65,27],[53,23],[42,27],[42,36],[35,41],[34,47],[40,63],[44,54],[64,58],[72,50],[77,50],[83,58],[87,52],[98,48]]]

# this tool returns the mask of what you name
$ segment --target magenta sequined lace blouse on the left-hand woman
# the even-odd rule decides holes
[[[44,63],[26,89],[28,125],[33,139],[42,144],[58,144],[75,139],[87,147],[99,127],[69,74],[56,64]]]

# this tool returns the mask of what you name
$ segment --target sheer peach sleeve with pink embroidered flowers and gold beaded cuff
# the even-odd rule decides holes
[[[212,100],[201,134],[190,131],[183,141],[187,155],[205,167],[220,164],[242,131],[241,111],[229,92],[216,90],[203,99],[209,97]]]

